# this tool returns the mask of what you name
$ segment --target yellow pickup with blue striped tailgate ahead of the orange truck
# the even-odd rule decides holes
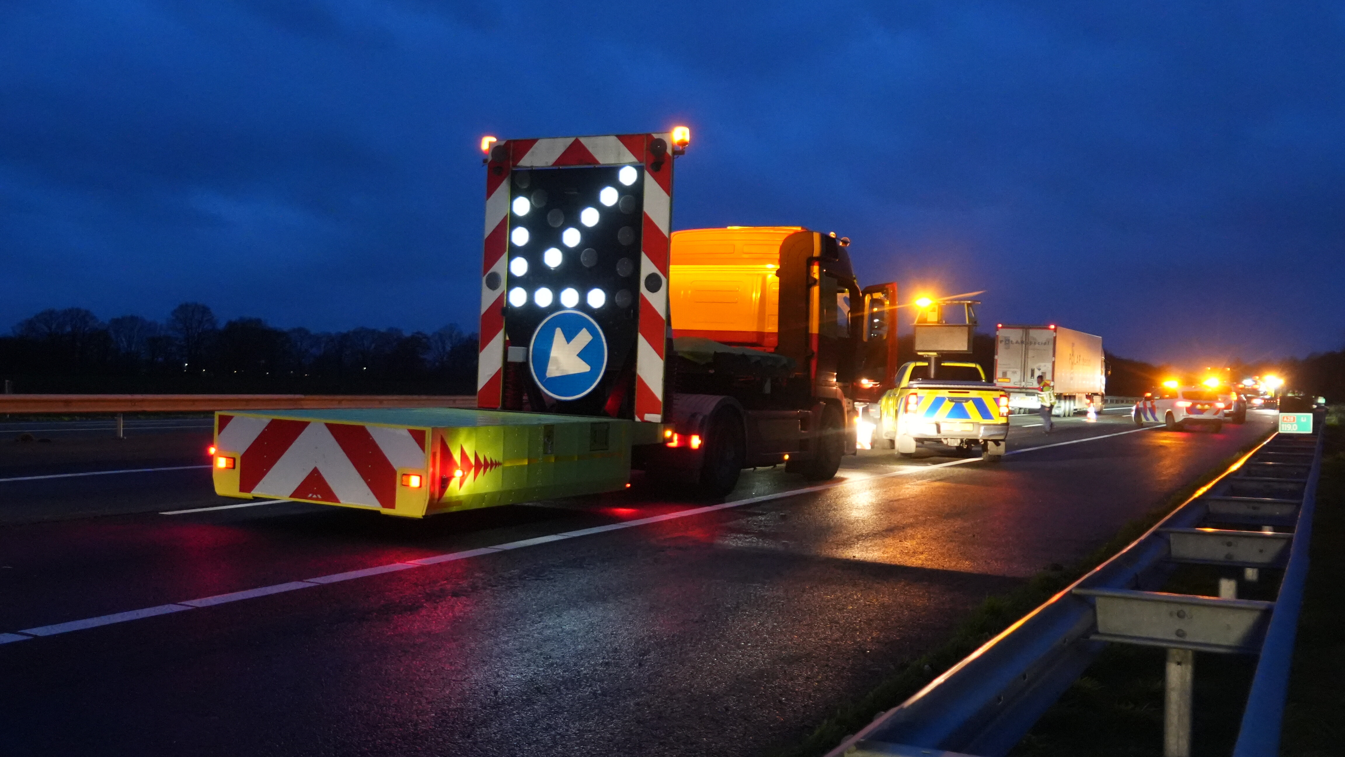
[[[1009,436],[1009,395],[986,381],[975,362],[939,362],[929,378],[927,361],[897,369],[897,385],[882,395],[878,436],[901,457],[921,442],[936,442],[998,461]]]

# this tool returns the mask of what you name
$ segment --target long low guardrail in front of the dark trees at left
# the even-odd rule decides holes
[[[0,395],[0,414],[476,407],[475,395]]]

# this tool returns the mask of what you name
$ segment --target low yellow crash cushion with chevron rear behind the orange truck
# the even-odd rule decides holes
[[[215,492],[426,515],[592,494],[629,480],[636,423],[498,411],[215,415]]]

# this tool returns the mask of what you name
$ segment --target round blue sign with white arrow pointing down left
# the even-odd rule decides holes
[[[607,337],[588,315],[561,310],[533,331],[527,354],[533,378],[543,392],[558,400],[577,400],[603,380]]]

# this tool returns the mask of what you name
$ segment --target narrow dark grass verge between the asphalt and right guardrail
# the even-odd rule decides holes
[[[943,671],[958,664],[975,652],[997,633],[1028,614],[1042,602],[1069,586],[1084,574],[1098,567],[1119,552],[1127,544],[1139,539],[1159,520],[1190,498],[1201,486],[1223,474],[1237,458],[1260,445],[1264,436],[1229,455],[1197,481],[1184,486],[1143,516],[1128,521],[1107,543],[1093,550],[1087,558],[1061,570],[1048,570],[1028,579],[1018,589],[995,597],[987,597],[971,614],[963,620],[952,636],[936,649],[907,664],[900,672],[881,682],[868,694],[839,704],[818,727],[798,745],[777,750],[775,757],[815,757],[834,749],[843,738],[873,722],[876,713],[890,710],[920,691]],[[1159,711],[1161,717],[1161,711]]]

